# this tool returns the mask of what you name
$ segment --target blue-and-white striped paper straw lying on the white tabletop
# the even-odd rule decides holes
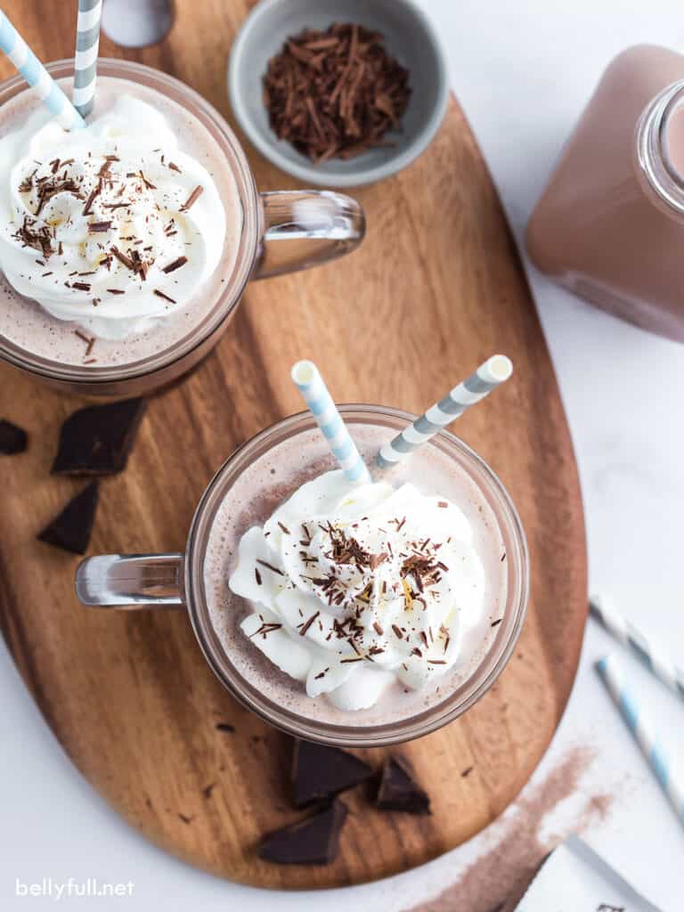
[[[679,817],[679,822],[684,824],[684,787],[682,784],[684,777],[682,777],[681,769],[675,765],[662,744],[656,740],[655,732],[648,719],[645,718],[638,701],[627,689],[625,677],[617,659],[614,656],[606,656],[596,663],[596,669],[623,719],[627,722],[627,728],[634,735],[648,765],[655,773],[663,792],[668,796],[669,803]]]

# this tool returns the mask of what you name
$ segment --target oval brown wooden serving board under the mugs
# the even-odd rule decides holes
[[[250,5],[187,0],[160,46],[124,52],[103,38],[101,52],[168,70],[230,119],[226,57]],[[8,0],[5,9],[43,59],[73,52],[75,3],[47,10]],[[10,73],[3,58],[0,77]],[[295,185],[250,157],[262,189]],[[35,536],[81,486],[50,477],[49,467],[62,420],[82,402],[0,368],[0,417],[31,435],[26,454],[0,457],[0,618],[26,685],[78,769],[130,824],[195,865],[261,886],[394,874],[501,814],[554,734],[586,619],[584,523],[565,415],[500,202],[457,102],[419,161],[357,195],[368,212],[357,253],[250,285],[212,356],[151,400],[129,468],[101,485],[90,545],[92,554],[181,551],[195,504],[233,447],[300,409],[288,378],[297,358],[315,357],[341,401],[416,412],[493,352],[513,358],[513,379],[457,430],[499,472],[529,538],[532,601],[519,647],[477,706],[402,749],[433,814],[380,814],[367,794],[349,794],[353,813],[332,865],[257,859],[260,836],[299,816],[286,795],[290,744],[213,678],[184,614],[78,605],[77,559]],[[218,731],[219,722],[234,733]],[[382,751],[368,753],[380,761]]]

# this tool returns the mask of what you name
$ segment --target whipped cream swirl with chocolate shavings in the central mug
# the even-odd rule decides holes
[[[367,709],[395,680],[437,682],[460,658],[461,618],[482,615],[472,538],[443,498],[326,472],[242,537],[229,580],[252,606],[242,630],[341,710]]]

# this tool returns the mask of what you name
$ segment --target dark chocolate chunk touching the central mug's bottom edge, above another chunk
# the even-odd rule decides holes
[[[295,741],[292,801],[295,807],[351,789],[373,775],[373,767],[353,753],[311,741]]]

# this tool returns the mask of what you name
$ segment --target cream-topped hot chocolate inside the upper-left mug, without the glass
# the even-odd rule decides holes
[[[0,337],[38,358],[150,358],[202,322],[233,272],[230,163],[189,109],[126,78],[98,78],[85,130],[62,130],[29,90],[5,103],[0,199]]]

